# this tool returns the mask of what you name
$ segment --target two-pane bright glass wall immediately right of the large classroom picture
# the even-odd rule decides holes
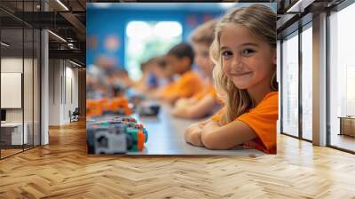
[[[312,22],[281,40],[281,133],[312,141]]]

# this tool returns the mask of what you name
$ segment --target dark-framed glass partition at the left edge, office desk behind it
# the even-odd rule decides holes
[[[35,11],[35,4],[16,2],[20,12]],[[0,10],[1,159],[36,147],[41,139],[40,30],[14,15]]]

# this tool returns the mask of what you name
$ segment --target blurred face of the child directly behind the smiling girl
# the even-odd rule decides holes
[[[213,62],[209,59],[209,45],[195,43],[193,44],[194,61],[200,70],[206,75],[211,76]]]

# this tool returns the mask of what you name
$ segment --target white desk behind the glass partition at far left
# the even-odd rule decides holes
[[[23,144],[28,143],[28,123],[24,123],[23,126],[25,126],[25,131],[23,131],[22,137],[22,123],[1,123],[2,139],[9,138],[8,140],[3,139],[5,145],[22,145],[22,140],[24,140]]]

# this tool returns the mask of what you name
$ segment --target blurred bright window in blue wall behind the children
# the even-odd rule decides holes
[[[142,62],[168,52],[182,41],[182,26],[177,21],[130,21],[126,38],[125,67],[130,78],[138,80]]]

